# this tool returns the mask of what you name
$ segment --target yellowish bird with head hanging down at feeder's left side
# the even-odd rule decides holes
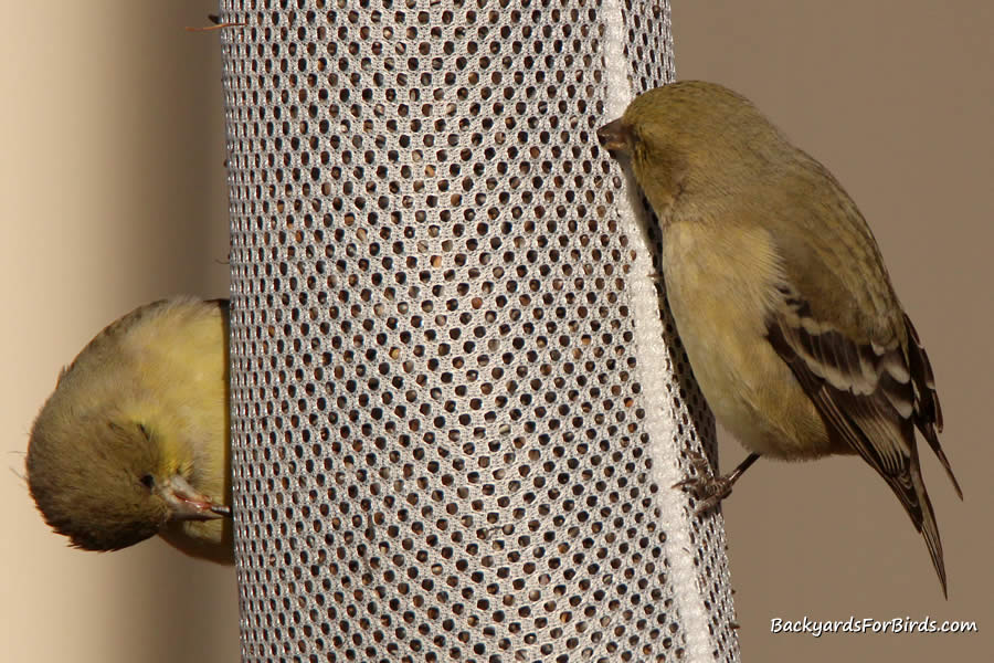
[[[62,371],[28,445],[45,522],[86,550],[156,534],[233,561],[228,302],[176,297],[101,332]]]

